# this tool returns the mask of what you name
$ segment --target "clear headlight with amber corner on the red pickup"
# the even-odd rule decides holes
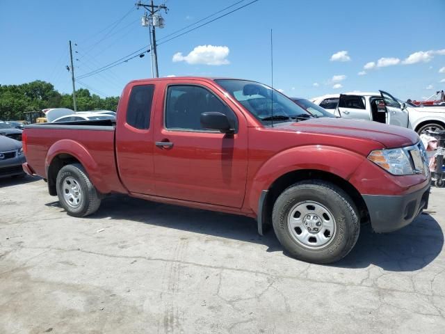
[[[394,175],[414,174],[410,157],[407,156],[403,148],[375,150],[369,154],[368,159]]]

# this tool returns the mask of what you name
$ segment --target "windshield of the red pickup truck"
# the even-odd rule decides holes
[[[295,122],[313,117],[289,97],[264,84],[233,79],[215,81],[264,125],[270,125],[272,122]]]

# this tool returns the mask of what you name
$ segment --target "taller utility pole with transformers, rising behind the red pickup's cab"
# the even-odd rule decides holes
[[[150,50],[152,55],[152,77],[159,77],[158,72],[158,53],[156,51],[156,26],[159,28],[164,27],[164,19],[161,16],[160,11],[163,9],[167,13],[168,8],[165,4],[155,6],[153,0],[150,0],[150,4],[142,3],[140,0],[136,3],[136,6],[143,7],[147,10],[142,17],[142,25],[149,27],[150,36]],[[147,15],[149,14],[149,15]]]

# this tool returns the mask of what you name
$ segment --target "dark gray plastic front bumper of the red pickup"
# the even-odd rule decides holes
[[[363,195],[373,230],[392,232],[414,221],[428,207],[430,184],[403,196]]]

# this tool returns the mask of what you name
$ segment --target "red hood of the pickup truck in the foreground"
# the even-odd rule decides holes
[[[369,139],[381,143],[385,148],[401,148],[413,145],[419,141],[419,136],[410,129],[371,122],[369,120],[312,118],[295,123],[279,123],[274,125],[273,128],[338,137]]]

